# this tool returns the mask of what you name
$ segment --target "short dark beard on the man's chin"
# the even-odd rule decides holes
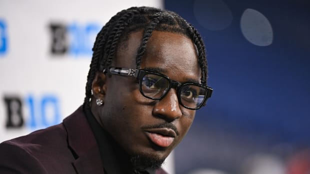
[[[130,157],[130,163],[136,170],[156,170],[161,167],[165,159],[150,156],[148,154],[135,154]]]

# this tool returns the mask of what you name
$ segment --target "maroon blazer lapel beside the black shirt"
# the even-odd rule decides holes
[[[82,106],[63,120],[67,131],[68,146],[75,161],[77,174],[103,174],[98,145],[86,120]]]

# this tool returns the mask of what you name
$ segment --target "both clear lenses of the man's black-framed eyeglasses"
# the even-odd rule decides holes
[[[141,92],[143,95],[160,99],[169,88],[169,80],[156,74],[146,74],[141,79]],[[178,98],[181,104],[188,108],[197,108],[204,101],[206,91],[204,88],[193,84],[181,85],[178,89]]]

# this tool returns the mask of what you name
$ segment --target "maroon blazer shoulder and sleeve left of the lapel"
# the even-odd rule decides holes
[[[75,115],[71,115],[74,117]],[[63,123],[0,144],[0,174],[73,173]]]

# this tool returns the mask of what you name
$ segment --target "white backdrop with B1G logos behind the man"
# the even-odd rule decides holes
[[[96,33],[116,12],[141,5],[163,2],[1,0],[0,142],[60,123],[79,107]],[[169,157],[170,174],[172,164]]]

